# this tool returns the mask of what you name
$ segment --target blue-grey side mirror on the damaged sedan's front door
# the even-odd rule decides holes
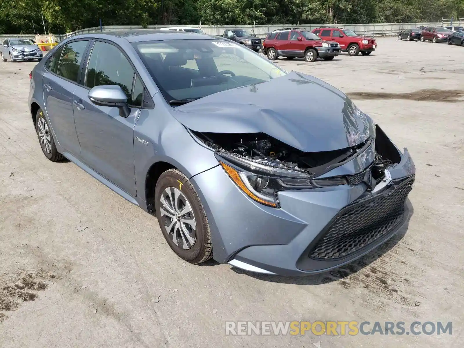
[[[121,117],[127,117],[130,114],[130,108],[127,105],[127,96],[117,84],[95,86],[89,91],[88,97],[95,105],[118,108],[119,116]]]

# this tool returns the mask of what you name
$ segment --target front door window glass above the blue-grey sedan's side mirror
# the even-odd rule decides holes
[[[134,69],[127,58],[114,45],[97,41],[90,53],[85,72],[85,86],[93,88],[107,84],[117,84],[128,98],[132,99]]]

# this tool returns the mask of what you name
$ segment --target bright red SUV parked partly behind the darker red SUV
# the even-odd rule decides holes
[[[348,51],[350,56],[357,56],[359,52],[363,56],[368,56],[377,47],[374,39],[363,38],[349,29],[317,28],[313,30],[313,33],[320,36],[323,40],[338,42],[342,51]]]

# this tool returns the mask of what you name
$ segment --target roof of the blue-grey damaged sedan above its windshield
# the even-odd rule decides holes
[[[159,30],[159,29],[140,29],[140,30],[117,30],[110,32],[96,32],[90,34],[81,34],[72,36],[70,39],[75,38],[100,38],[100,39],[109,39],[112,38],[121,38],[126,39],[129,42],[141,42],[141,41],[162,41],[162,40],[187,40],[187,39],[212,39],[211,36],[199,34],[196,32],[178,32],[174,30]],[[221,40],[221,38],[214,37],[215,40]]]

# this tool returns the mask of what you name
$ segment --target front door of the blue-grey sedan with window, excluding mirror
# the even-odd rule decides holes
[[[74,118],[81,144],[80,158],[98,174],[135,197],[134,126],[143,90],[134,68],[118,47],[95,41],[84,71],[84,86],[74,91]],[[119,116],[111,106],[98,106],[88,97],[94,86],[116,84],[128,96],[131,111]]]

